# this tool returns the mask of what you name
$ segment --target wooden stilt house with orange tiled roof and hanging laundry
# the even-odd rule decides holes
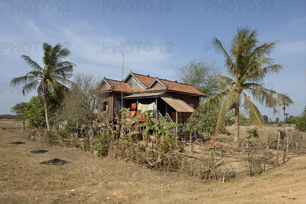
[[[110,121],[115,120],[115,109],[121,109],[122,92],[123,107],[131,108],[128,117],[134,118],[145,110],[155,110],[152,121],[166,116],[167,121],[180,124],[175,129],[176,133],[184,132],[187,119],[199,106],[200,98],[206,96],[188,84],[132,72],[123,82],[104,78],[97,92],[104,96],[98,100],[99,117],[107,114]]]

